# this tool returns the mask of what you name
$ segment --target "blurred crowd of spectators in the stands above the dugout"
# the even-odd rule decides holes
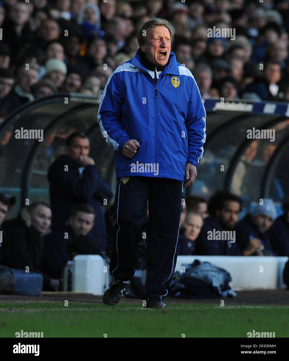
[[[0,112],[58,92],[97,96],[154,17],[173,25],[172,51],[203,98],[289,101],[288,0],[3,0]]]

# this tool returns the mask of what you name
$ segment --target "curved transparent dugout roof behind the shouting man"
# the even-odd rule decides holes
[[[22,106],[1,124],[0,191],[17,197],[9,218],[27,198],[30,203],[49,202],[48,167],[63,153],[65,139],[74,131],[88,134],[90,155],[101,176],[115,188],[114,149],[103,139],[96,121],[99,100],[61,93]],[[204,106],[204,157],[187,195],[207,198],[217,189],[228,189],[250,201],[259,197],[282,201],[289,194],[288,104],[207,99]],[[258,129],[263,130],[263,138],[256,139]],[[38,130],[41,139],[25,139],[25,130]],[[16,139],[16,132],[20,139]]]

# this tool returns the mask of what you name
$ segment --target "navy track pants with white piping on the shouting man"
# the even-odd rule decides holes
[[[133,278],[137,247],[146,229],[145,299],[148,296],[162,299],[167,295],[177,262],[183,182],[168,178],[127,178],[119,178],[116,187],[110,274],[119,280]]]

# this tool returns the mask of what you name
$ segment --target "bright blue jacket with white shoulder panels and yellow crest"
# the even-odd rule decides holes
[[[110,75],[97,114],[106,142],[116,151],[116,178],[137,175],[178,181],[184,181],[187,161],[197,167],[203,157],[205,119],[190,70],[170,52],[158,77],[142,64],[140,49]],[[122,148],[130,139],[136,139],[140,148],[126,158]]]

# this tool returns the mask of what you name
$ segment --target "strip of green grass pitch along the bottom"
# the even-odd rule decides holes
[[[289,336],[289,306],[27,302],[0,303],[0,337],[43,332],[43,337],[247,337],[247,332]],[[107,335],[107,336],[105,336]],[[184,335],[184,336],[183,336]]]

